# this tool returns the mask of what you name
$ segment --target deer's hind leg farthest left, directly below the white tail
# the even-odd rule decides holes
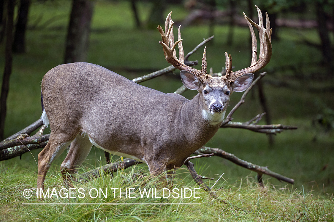
[[[44,180],[51,163],[55,160],[71,143],[73,136],[51,132],[50,139],[44,149],[38,154],[38,175],[37,188],[44,188]]]

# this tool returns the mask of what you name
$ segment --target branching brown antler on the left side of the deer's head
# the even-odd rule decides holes
[[[158,31],[161,34],[161,41],[159,43],[162,45],[164,49],[164,54],[167,62],[172,64],[175,68],[179,70],[185,70],[188,71],[195,76],[199,78],[201,82],[203,82],[206,77],[206,47],[204,48],[204,53],[203,53],[203,58],[202,58],[202,68],[201,70],[194,69],[192,67],[186,66],[184,64],[184,52],[183,52],[183,46],[182,46],[182,39],[181,39],[181,25],[179,26],[178,29],[178,37],[177,41],[174,43],[174,35],[173,35],[173,24],[174,22],[172,21],[171,18],[171,13],[170,12],[166,18],[166,23],[165,23],[165,32],[162,30],[161,26],[158,26]],[[175,47],[178,45],[179,47],[179,59],[176,58],[176,52],[175,52]]]

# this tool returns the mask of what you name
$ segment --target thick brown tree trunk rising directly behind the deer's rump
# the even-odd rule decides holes
[[[86,61],[93,7],[91,0],[73,0],[64,63]]]

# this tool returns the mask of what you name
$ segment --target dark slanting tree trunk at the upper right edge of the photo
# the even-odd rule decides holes
[[[324,63],[328,67],[328,73],[330,76],[334,75],[334,58],[332,45],[329,38],[329,31],[326,25],[326,15],[324,11],[323,3],[316,1],[316,14],[318,22],[318,33],[321,40],[321,51],[324,58]]]

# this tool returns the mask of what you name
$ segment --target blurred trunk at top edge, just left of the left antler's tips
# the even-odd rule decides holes
[[[149,29],[157,28],[157,24],[165,24],[164,12],[166,9],[166,2],[163,0],[153,0],[150,17],[147,21],[147,27]]]

